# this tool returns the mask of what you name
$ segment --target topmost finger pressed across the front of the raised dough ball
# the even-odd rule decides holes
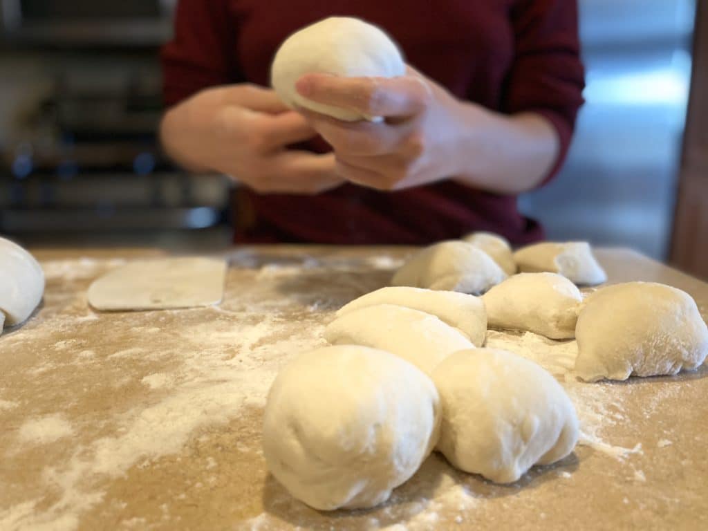
[[[305,74],[295,87],[304,98],[367,116],[416,115],[426,108],[431,95],[426,80],[416,75],[383,78]]]

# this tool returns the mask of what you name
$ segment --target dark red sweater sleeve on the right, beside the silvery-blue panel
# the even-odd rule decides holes
[[[578,42],[576,0],[519,0],[511,12],[514,61],[503,110],[534,112],[558,133],[560,150],[543,183],[561,168],[583,104],[584,69]]]

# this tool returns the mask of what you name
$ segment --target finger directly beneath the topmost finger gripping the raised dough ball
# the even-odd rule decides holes
[[[333,149],[348,156],[378,156],[394,152],[409,134],[411,125],[387,125],[372,122],[343,122],[330,116],[298,109],[310,126]]]

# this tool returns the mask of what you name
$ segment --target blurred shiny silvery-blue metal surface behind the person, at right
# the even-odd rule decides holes
[[[665,259],[690,84],[693,0],[580,0],[586,105],[564,169],[520,198],[551,239]]]

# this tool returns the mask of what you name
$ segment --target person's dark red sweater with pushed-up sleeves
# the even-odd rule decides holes
[[[384,28],[406,61],[459,98],[552,122],[564,159],[583,102],[576,0],[181,0],[164,48],[171,105],[208,86],[268,85],[270,62],[293,31],[332,15]],[[236,176],[237,177],[237,176]],[[542,238],[515,196],[452,181],[383,193],[344,185],[315,197],[243,194],[250,221],[236,241],[427,244],[474,230],[515,244]]]

